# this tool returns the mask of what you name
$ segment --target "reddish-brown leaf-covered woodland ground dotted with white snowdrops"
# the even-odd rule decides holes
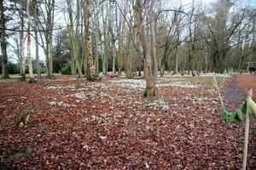
[[[218,82],[230,111],[247,88],[256,93],[256,75]],[[241,169],[244,122],[222,120],[212,77],[157,84],[159,95],[145,99],[140,79],[1,80],[0,169]],[[28,125],[15,127],[26,111]],[[256,169],[255,120],[248,153]]]

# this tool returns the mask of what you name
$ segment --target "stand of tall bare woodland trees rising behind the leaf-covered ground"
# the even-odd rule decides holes
[[[2,77],[8,76],[9,39],[15,40],[20,75],[40,79],[38,48],[47,77],[54,72],[97,80],[99,73],[145,77],[154,95],[157,73],[200,75],[243,72],[255,66],[255,8],[235,0],[171,6],[161,0],[2,0]],[[62,15],[66,26],[58,25]],[[31,48],[34,42],[34,48]],[[25,47],[27,47],[25,49]],[[31,51],[35,50],[36,62]],[[26,54],[26,55],[25,55]],[[27,58],[25,57],[27,56]],[[28,69],[25,67],[27,59]],[[36,70],[34,69],[36,67]]]

